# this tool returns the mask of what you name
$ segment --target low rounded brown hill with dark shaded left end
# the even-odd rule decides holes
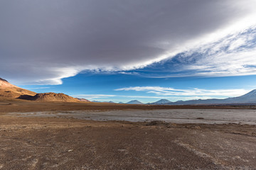
[[[41,101],[41,102],[48,102],[48,101],[64,101],[64,102],[78,102],[77,98],[73,98],[66,94],[55,94],[55,93],[44,93],[44,94],[36,94],[35,96],[20,96],[21,99],[31,100],[31,101]]]

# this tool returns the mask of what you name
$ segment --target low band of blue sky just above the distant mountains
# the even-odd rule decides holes
[[[84,73],[63,79],[60,85],[22,87],[38,93],[53,91],[91,101],[127,102],[137,99],[148,103],[161,98],[178,101],[240,96],[256,89],[255,84],[256,76],[149,78],[136,74]],[[159,91],[161,93],[157,94]]]

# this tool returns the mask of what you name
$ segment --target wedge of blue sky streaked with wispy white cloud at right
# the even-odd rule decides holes
[[[132,70],[146,77],[223,77],[256,74],[256,26]]]

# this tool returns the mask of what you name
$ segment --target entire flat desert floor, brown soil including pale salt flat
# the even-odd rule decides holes
[[[256,169],[254,107],[17,100],[0,117],[0,169]]]

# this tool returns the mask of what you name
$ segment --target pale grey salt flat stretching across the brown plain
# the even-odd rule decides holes
[[[144,122],[162,120],[168,123],[240,123],[256,125],[256,110],[248,109],[161,109],[122,111],[43,111],[9,113],[25,117],[68,117],[84,120],[124,120]]]

